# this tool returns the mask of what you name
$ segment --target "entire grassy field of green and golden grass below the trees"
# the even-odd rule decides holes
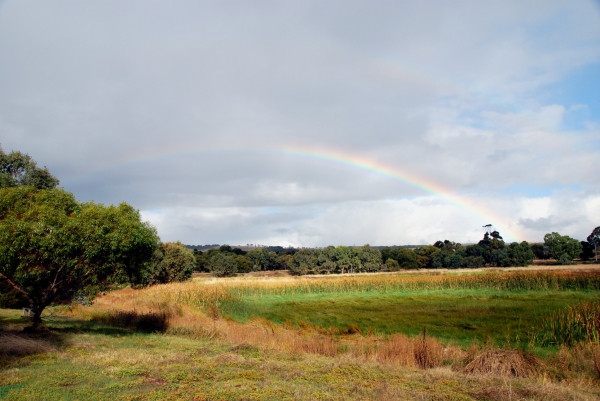
[[[600,399],[599,295],[578,271],[232,278],[49,308],[37,334],[0,310],[0,399]],[[591,340],[538,341],[581,316]]]

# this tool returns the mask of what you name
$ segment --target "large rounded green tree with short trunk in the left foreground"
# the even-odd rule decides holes
[[[87,286],[141,283],[151,274],[156,230],[126,203],[79,203],[62,189],[0,189],[0,279],[44,308]]]

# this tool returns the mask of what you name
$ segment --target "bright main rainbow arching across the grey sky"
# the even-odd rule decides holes
[[[375,174],[387,179],[400,182],[404,185],[409,185],[416,188],[426,194],[435,196],[436,198],[442,199],[444,202],[453,205],[461,211],[475,217],[483,224],[493,223],[494,227],[500,231],[504,239],[507,241],[516,241],[523,238],[523,235],[516,233],[511,228],[511,224],[507,223],[505,219],[490,210],[480,206],[474,200],[464,195],[457,195],[449,189],[437,184],[434,181],[426,178],[417,176],[405,169],[398,169],[389,167],[382,163],[376,162],[367,157],[349,153],[341,152],[331,149],[316,149],[308,148],[302,145],[287,145],[280,147],[231,147],[227,146],[190,146],[187,148],[172,148],[169,150],[163,150],[160,152],[154,152],[146,155],[134,156],[126,160],[122,160],[109,167],[99,168],[91,172],[91,174],[98,174],[101,172],[107,172],[112,170],[121,169],[123,167],[151,163],[161,160],[167,160],[174,157],[181,157],[187,154],[197,154],[205,152],[224,152],[224,153],[235,153],[235,152],[259,152],[259,153],[275,153],[280,155],[288,155],[296,158],[303,158],[311,161],[320,161],[328,164],[334,164],[337,166],[345,166],[354,170],[359,170],[371,174]],[[89,177],[90,173],[85,173],[85,177]],[[80,176],[83,177],[83,176]],[[72,179],[71,179],[72,180]],[[67,180],[67,181],[71,181]],[[482,225],[483,225],[482,224]]]

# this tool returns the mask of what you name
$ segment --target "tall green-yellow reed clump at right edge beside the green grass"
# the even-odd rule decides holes
[[[544,322],[542,343],[573,346],[600,343],[600,301],[569,306]]]

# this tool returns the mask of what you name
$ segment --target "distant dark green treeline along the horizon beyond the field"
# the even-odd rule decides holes
[[[596,234],[594,234],[596,233]],[[594,236],[595,235],[595,236]],[[543,244],[513,242],[506,244],[497,231],[486,233],[477,244],[462,245],[437,241],[433,245],[409,248],[328,246],[316,249],[285,249],[283,252],[254,248],[248,252],[223,245],[201,252],[194,250],[196,271],[215,276],[232,276],[252,271],[289,270],[294,275],[363,273],[401,269],[458,269],[478,267],[529,266],[537,259],[556,259],[570,264],[574,259],[595,256],[594,244],[600,228],[577,241],[558,233],[549,233]],[[594,242],[596,241],[596,242]]]

